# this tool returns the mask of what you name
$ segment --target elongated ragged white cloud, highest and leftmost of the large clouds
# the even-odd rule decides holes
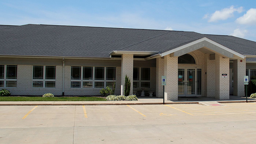
[[[230,6],[230,8],[224,8],[220,11],[215,11],[211,14],[210,19],[208,22],[217,22],[218,20],[226,20],[233,16],[234,12],[241,13],[243,11],[243,7],[234,8],[234,6]],[[208,17],[208,16],[207,16]]]

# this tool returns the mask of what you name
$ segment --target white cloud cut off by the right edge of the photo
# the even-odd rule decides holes
[[[236,19],[236,22],[239,24],[255,25],[256,24],[256,9],[251,8],[242,17]]]

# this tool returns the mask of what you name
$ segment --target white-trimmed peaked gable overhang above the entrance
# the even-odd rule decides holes
[[[218,53],[221,56],[225,58],[230,58],[230,59],[244,59],[244,55],[235,52],[219,43],[214,42],[213,40],[203,37],[201,39],[195,40],[191,43],[179,46],[175,49],[162,52],[161,57],[166,56],[168,54],[171,54],[170,56],[178,57],[181,55],[184,55],[186,53],[198,50],[200,48],[205,48],[209,51],[212,51],[214,53]]]

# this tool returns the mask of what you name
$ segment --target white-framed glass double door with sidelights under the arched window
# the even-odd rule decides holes
[[[202,69],[178,68],[178,96],[201,96]]]

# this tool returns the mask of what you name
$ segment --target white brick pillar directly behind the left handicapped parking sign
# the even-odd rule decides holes
[[[165,100],[178,100],[178,57],[164,57]]]

